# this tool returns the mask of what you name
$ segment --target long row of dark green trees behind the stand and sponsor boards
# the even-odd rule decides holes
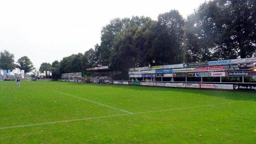
[[[115,18],[101,31],[101,43],[84,54],[73,54],[40,71],[83,72],[95,66],[112,66],[127,77],[128,68],[256,55],[256,0],[211,0],[186,18],[177,10],[157,20],[133,16]]]

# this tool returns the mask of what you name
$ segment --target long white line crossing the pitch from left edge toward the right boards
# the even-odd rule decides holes
[[[155,110],[155,111],[148,111],[148,112],[136,112],[136,113],[131,113],[131,114],[120,114],[120,115],[99,116],[99,117],[91,117],[91,118],[80,118],[80,119],[73,119],[73,120],[66,120],[66,121],[52,121],[52,122],[39,123],[39,124],[26,124],[26,125],[20,125],[20,126],[0,127],[0,130],[18,128],[18,127],[32,127],[32,126],[39,126],[39,125],[44,125],[44,124],[64,123],[64,122],[71,122],[71,121],[84,121],[84,120],[98,119],[98,118],[110,118],[110,117],[122,116],[122,115],[136,115],[136,114],[151,113],[151,112],[163,112],[163,111],[171,111],[171,110],[179,110],[179,109],[191,109],[191,108],[197,108],[197,107],[212,107],[212,106],[216,106],[216,105],[233,104],[233,103],[239,103],[239,102],[241,102],[241,101],[230,102],[230,103],[221,103],[221,104],[202,105],[202,106],[195,106],[195,107],[181,107],[181,108],[175,108],[175,109],[162,109],[162,110]]]

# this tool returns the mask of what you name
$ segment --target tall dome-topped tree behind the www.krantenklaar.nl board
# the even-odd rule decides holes
[[[184,19],[177,10],[158,16],[153,52],[155,65],[183,62],[183,26]]]

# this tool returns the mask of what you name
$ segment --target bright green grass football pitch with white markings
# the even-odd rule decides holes
[[[255,144],[256,92],[0,82],[0,144]]]

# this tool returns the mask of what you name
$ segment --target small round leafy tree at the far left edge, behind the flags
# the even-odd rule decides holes
[[[7,50],[0,52],[0,69],[15,69],[14,55]]]

